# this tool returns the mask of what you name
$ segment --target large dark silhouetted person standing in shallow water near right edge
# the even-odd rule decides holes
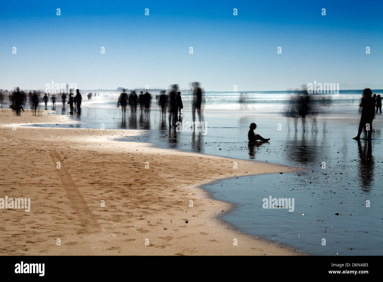
[[[375,99],[372,97],[372,91],[370,88],[366,88],[363,91],[362,102],[359,105],[362,107],[362,116],[360,117],[358,135],[354,137],[355,140],[360,140],[360,134],[362,134],[363,128],[367,131],[367,136],[363,140],[372,140],[372,120],[375,117]]]

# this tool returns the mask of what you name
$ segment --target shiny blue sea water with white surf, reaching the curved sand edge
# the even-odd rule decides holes
[[[106,129],[141,129],[143,135],[119,140],[304,168],[299,173],[219,180],[202,188],[213,198],[234,203],[236,208],[221,219],[248,234],[308,254],[382,255],[383,118],[377,114],[373,121],[372,142],[352,139],[360,120],[361,92],[314,96],[317,102],[311,105],[316,109],[318,130],[312,130],[316,128],[311,115],[306,117],[308,130],[303,131],[300,119],[295,130],[294,119],[283,116],[295,94],[279,91],[248,92],[246,99],[241,93],[206,93],[204,132],[188,126],[183,132],[170,128],[168,115],[163,117],[155,103],[149,117],[139,109],[135,115],[127,109],[123,119],[121,109],[116,108],[118,93],[83,100],[82,115],[68,116],[69,123],[39,126],[100,128],[104,124]],[[177,120],[191,122],[192,96],[185,93],[182,97],[183,114]],[[323,97],[331,101],[321,103]],[[239,103],[240,99],[246,103]],[[68,106],[57,105],[54,113],[69,111]],[[257,123],[255,132],[270,137],[270,142],[248,145],[251,122]],[[294,211],[263,208],[263,199],[270,196],[294,199]]]

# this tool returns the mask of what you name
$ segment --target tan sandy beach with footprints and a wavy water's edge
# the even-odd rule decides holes
[[[221,178],[298,169],[114,140],[139,130],[20,126],[65,121],[43,111],[0,112],[0,198],[31,198],[30,212],[0,209],[1,255],[299,254],[219,220],[232,204],[198,188]]]

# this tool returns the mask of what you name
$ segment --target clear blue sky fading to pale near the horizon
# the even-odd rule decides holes
[[[383,1],[333,2],[3,1],[0,88],[382,89]]]

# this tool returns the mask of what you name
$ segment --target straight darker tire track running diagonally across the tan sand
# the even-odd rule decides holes
[[[51,158],[55,165],[57,164],[57,162],[60,162],[61,168],[57,169],[57,173],[60,177],[61,184],[64,187],[65,192],[67,193],[67,196],[70,200],[72,209],[74,210],[75,215],[79,219],[84,231],[89,233],[102,232],[100,224],[97,222],[97,219],[88,207],[79,188],[73,181],[68,170],[65,168],[65,165],[62,163],[60,158],[57,157],[57,153],[51,151]]]

